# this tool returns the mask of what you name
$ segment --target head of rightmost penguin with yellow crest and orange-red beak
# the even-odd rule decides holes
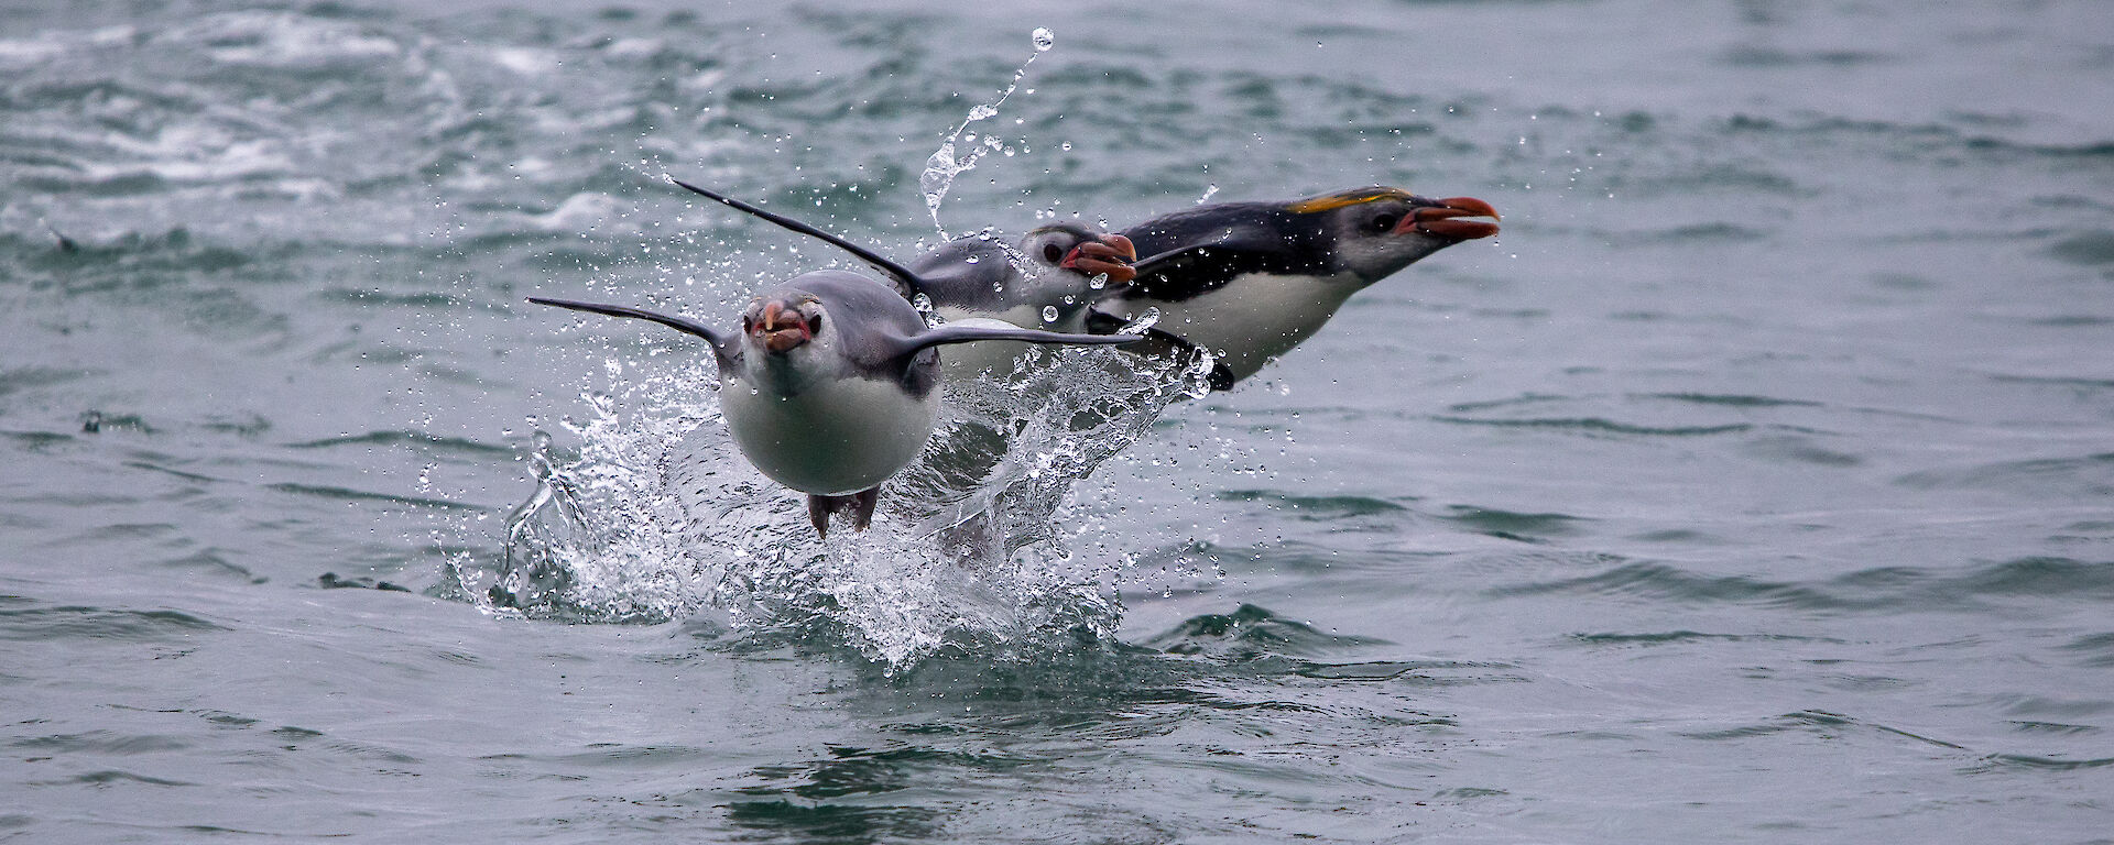
[[[1385,186],[1321,194],[1290,209],[1321,218],[1338,266],[1368,283],[1454,243],[1492,237],[1499,220],[1497,209],[1480,199],[1425,199]]]

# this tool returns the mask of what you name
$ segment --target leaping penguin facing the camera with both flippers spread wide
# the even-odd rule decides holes
[[[824,239],[850,247],[898,285],[920,283],[917,275],[888,258]],[[926,327],[898,292],[846,270],[803,273],[757,296],[742,313],[740,336],[628,306],[552,298],[528,302],[645,319],[704,338],[719,363],[721,410],[734,444],[763,475],[808,494],[808,520],[822,537],[829,534],[831,513],[848,513],[852,528],[865,528],[873,520],[879,484],[907,467],[932,437],[939,414],[937,346],[1139,340],[1013,325]]]

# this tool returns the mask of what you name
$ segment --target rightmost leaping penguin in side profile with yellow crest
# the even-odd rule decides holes
[[[1351,294],[1461,241],[1497,234],[1497,209],[1469,196],[1355,188],[1292,203],[1220,203],[1123,230],[1142,256],[1129,285],[1095,302],[1093,332],[1158,308],[1148,336],[1218,357],[1230,389],[1292,351]]]

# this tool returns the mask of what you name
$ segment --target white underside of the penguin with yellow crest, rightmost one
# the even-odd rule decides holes
[[[1135,319],[1161,308],[1158,327],[1220,355],[1235,378],[1254,376],[1273,357],[1292,351],[1336,315],[1364,283],[1357,277],[1279,277],[1249,273],[1218,289],[1180,300],[1131,304]]]

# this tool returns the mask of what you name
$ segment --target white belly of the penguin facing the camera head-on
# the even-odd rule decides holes
[[[784,395],[748,380],[721,391],[734,444],[763,475],[799,492],[846,496],[907,467],[939,416],[939,395],[892,380],[822,378]]]

